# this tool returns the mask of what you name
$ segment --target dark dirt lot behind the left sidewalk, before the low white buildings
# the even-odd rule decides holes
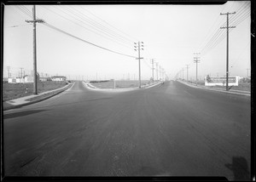
[[[38,82],[38,94],[62,88],[67,82]],[[33,83],[3,83],[3,101],[14,100],[33,94]]]

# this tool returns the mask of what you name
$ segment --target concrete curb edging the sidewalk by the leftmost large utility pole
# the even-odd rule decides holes
[[[67,88],[60,89],[59,91],[58,91],[58,90],[57,90],[57,91],[56,91],[56,90],[53,90],[52,92],[55,92],[55,91],[56,91],[55,94],[49,94],[49,93],[47,93],[47,94],[49,94],[48,96],[45,96],[45,97],[40,98],[40,99],[38,99],[38,100],[32,100],[32,101],[29,101],[29,102],[27,102],[27,103],[20,104],[20,105],[10,105],[10,106],[7,106],[7,107],[3,108],[3,111],[8,111],[8,110],[11,110],[11,109],[17,109],[17,108],[20,108],[20,107],[22,107],[22,106],[32,105],[32,104],[35,104],[35,103],[38,103],[38,102],[41,102],[41,101],[44,101],[44,100],[48,100],[49,98],[55,96],[56,94],[61,94],[62,92],[66,91],[68,88],[71,88],[72,85],[73,85],[73,83],[72,83],[72,84],[69,83],[67,86],[70,86],[70,87],[65,86],[65,87],[67,87]],[[42,95],[44,95],[44,94],[42,94]],[[41,95],[39,95],[39,96],[41,96]]]

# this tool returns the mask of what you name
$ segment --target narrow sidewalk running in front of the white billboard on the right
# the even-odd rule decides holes
[[[208,90],[213,90],[213,91],[227,93],[227,94],[239,94],[239,95],[244,95],[244,96],[251,96],[251,92],[243,91],[243,90],[234,90],[233,89],[230,91],[226,91],[224,88],[211,88],[211,87],[207,87],[207,86],[203,86],[203,85],[196,86],[195,83],[183,82],[180,80],[177,80],[177,82],[181,82],[181,83],[188,85],[189,87],[193,87],[193,88],[208,89]]]

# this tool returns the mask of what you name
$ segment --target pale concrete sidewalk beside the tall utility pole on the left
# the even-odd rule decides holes
[[[40,94],[32,94],[26,97],[21,97],[15,100],[8,100],[3,102],[3,111],[19,108],[21,106],[25,105],[32,105],[34,103],[47,100],[50,97],[55,96],[56,94],[60,94],[61,92],[67,90],[68,88],[71,88],[73,86],[73,83],[68,83],[66,86],[62,88],[57,88],[55,90],[49,90],[44,93]]]

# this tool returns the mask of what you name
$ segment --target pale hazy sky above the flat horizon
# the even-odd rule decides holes
[[[4,7],[4,76],[20,68],[32,70],[32,5]],[[101,79],[138,77],[138,60],[84,43],[137,57],[134,42],[143,42],[142,79],[152,77],[149,59],[173,78],[189,65],[195,79],[194,53],[201,53],[199,76],[223,76],[226,70],[226,15],[230,14],[230,75],[247,76],[250,69],[250,9],[248,1],[224,5],[37,5],[38,72]],[[55,26],[70,35],[55,31]],[[155,65],[154,65],[155,66]],[[30,72],[26,72],[28,74]],[[183,72],[186,78],[186,70]],[[154,73],[155,75],[156,73]],[[155,77],[155,76],[154,76]]]

